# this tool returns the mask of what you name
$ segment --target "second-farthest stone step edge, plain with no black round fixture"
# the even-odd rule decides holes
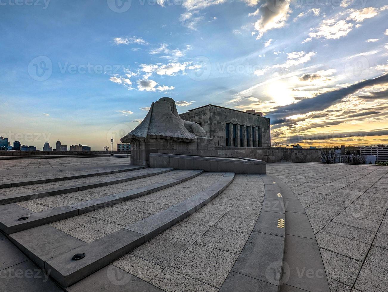
[[[35,192],[6,195],[0,198],[0,205],[22,202],[22,201],[36,199],[36,198],[45,198],[45,197],[54,196],[54,195],[68,194],[72,192],[78,192],[81,190],[88,190],[90,188],[104,187],[104,186],[107,186],[108,184],[113,185],[113,184],[122,183],[125,181],[137,180],[139,178],[160,175],[162,173],[166,173],[174,169],[175,168],[164,168],[162,170],[150,171],[150,173],[143,174],[143,175],[128,175],[128,177],[124,177],[124,178],[113,178],[113,179],[109,178],[104,181],[93,181],[91,183],[80,183],[77,185],[66,186],[66,187],[49,188],[47,190],[40,190]]]

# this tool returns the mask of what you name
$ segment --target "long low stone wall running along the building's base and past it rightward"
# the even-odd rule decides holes
[[[290,148],[254,148],[254,147],[215,147],[210,150],[160,149],[158,153],[215,156],[215,157],[245,157],[271,162],[321,162],[319,149]]]

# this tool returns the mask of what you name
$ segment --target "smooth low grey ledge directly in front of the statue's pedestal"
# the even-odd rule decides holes
[[[265,174],[265,161],[245,158],[189,156],[177,154],[149,154],[151,167],[175,167],[177,169],[203,169],[204,171],[227,171],[236,174]]]

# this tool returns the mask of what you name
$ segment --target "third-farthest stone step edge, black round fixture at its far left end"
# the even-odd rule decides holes
[[[168,171],[164,171],[168,172]],[[126,200],[135,199],[147,194],[163,190],[168,187],[172,187],[184,181],[195,178],[203,173],[203,170],[194,170],[186,175],[178,176],[177,178],[162,181],[161,183],[153,183],[142,188],[136,188],[133,190],[128,190],[118,194],[113,194],[109,196],[100,197],[97,199],[87,200],[77,204],[71,204],[68,206],[57,207],[53,209],[48,209],[45,211],[28,213],[21,215],[18,213],[14,216],[6,216],[0,221],[0,230],[6,234],[12,234],[22,230],[27,230],[33,227],[49,224],[55,221],[62,219],[71,218],[77,215],[85,214],[88,212],[95,211],[97,209],[110,207]],[[158,173],[160,174],[160,173]],[[148,177],[151,175],[146,175],[142,177]],[[141,177],[140,177],[141,178]],[[22,221],[19,218],[27,217]]]

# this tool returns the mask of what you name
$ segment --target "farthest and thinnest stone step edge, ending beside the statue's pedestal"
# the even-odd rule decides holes
[[[121,173],[126,171],[132,171],[132,170],[139,170],[147,168],[147,166],[136,166],[132,168],[124,168],[124,169],[116,169],[112,171],[99,171],[99,172],[92,172],[92,173],[85,173],[83,175],[72,175],[72,176],[59,176],[57,178],[43,178],[39,180],[31,180],[31,179],[25,179],[25,180],[18,180],[11,183],[0,183],[0,188],[11,188],[11,187],[22,187],[24,185],[36,185],[39,183],[53,183],[55,181],[63,181],[63,180],[74,180],[77,178],[88,178],[92,176],[101,176],[101,175],[111,175],[113,173]]]

